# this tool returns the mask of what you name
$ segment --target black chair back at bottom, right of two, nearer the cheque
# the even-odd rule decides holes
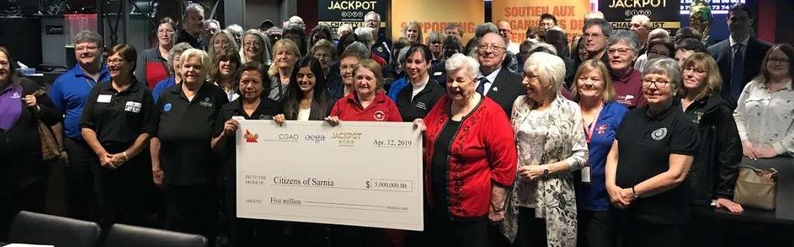
[[[106,247],[206,247],[202,235],[183,234],[141,226],[114,224],[102,246]],[[59,246],[60,247],[60,246]]]

